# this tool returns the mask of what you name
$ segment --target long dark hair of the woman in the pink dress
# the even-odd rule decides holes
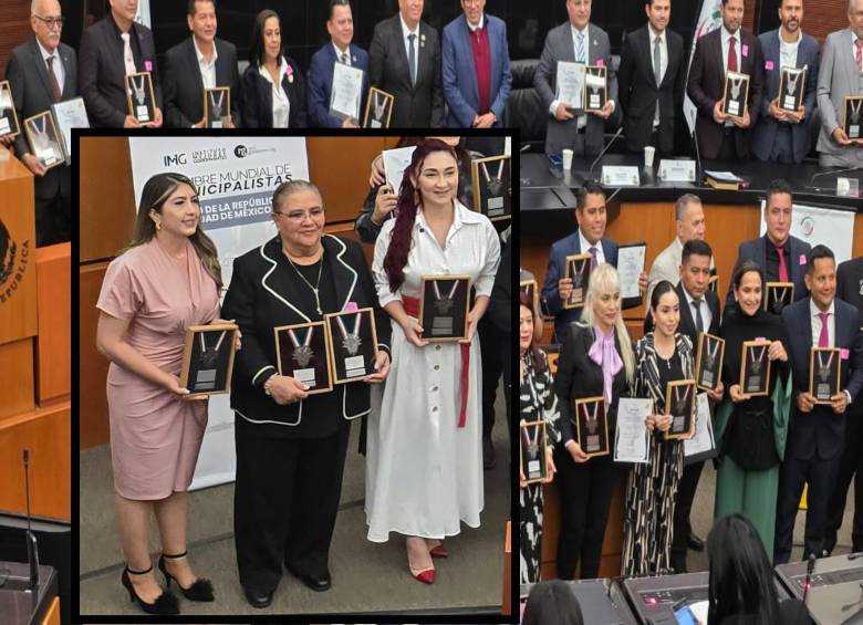
[[[141,205],[138,206],[138,216],[135,218],[135,229],[132,232],[132,241],[119,253],[131,250],[137,246],[143,246],[153,240],[156,236],[156,223],[150,219],[149,211],[162,212],[162,207],[168,200],[170,195],[177,190],[180,185],[188,185],[197,196],[198,189],[195,183],[181,174],[156,174],[144,185],[141,191]],[[219,264],[219,252],[216,250],[216,243],[212,242],[204,230],[200,229],[200,219],[195,233],[189,237],[191,246],[204,263],[204,269],[216,281],[216,287],[221,291],[221,264]]]

